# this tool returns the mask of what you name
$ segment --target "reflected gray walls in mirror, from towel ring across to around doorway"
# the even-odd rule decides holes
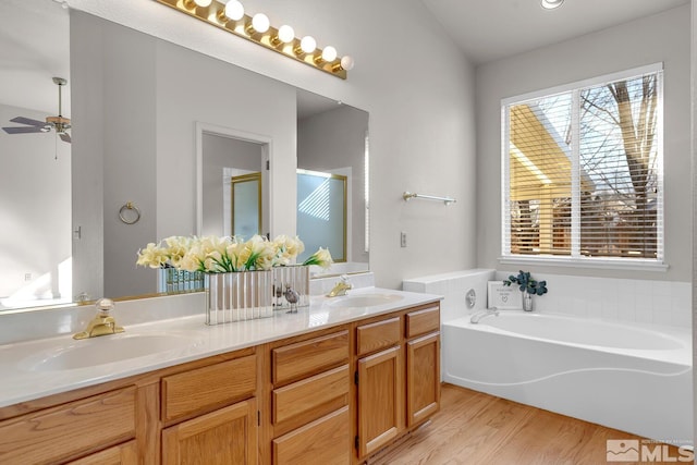
[[[83,227],[76,292],[157,290],[136,252],[196,233],[196,122],[272,140],[270,196],[280,213],[271,234],[295,231],[293,87],[80,11],[71,14],[71,44],[73,223]],[[119,219],[126,201],[142,211],[136,224]]]

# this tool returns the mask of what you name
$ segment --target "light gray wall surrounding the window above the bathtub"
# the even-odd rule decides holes
[[[501,99],[644,64],[664,64],[668,272],[535,267],[562,274],[689,280],[689,5],[477,68],[477,262],[500,268]]]

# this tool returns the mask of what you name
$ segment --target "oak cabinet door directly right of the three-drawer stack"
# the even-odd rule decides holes
[[[404,429],[404,365],[398,345],[358,360],[358,454],[390,443]]]

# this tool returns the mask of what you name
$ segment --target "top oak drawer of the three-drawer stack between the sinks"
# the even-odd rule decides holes
[[[272,351],[273,383],[285,384],[348,362],[348,331],[341,331]]]

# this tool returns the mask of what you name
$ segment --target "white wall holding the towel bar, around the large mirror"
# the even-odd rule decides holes
[[[420,1],[246,4],[253,13],[265,11],[273,25],[288,22],[298,35],[311,34],[320,46],[332,44],[341,54],[352,54],[356,66],[347,81],[155,1],[71,0],[71,7],[367,110],[372,155],[370,268],[376,283],[399,287],[405,278],[475,265],[474,69]],[[172,70],[173,91],[191,91],[194,63]],[[236,95],[241,97],[244,93]],[[167,147],[158,144],[158,152],[185,146],[185,140],[171,140]],[[401,197],[404,191],[451,195],[457,204],[448,208],[419,200],[406,204]],[[176,220],[161,227],[158,233],[178,227],[182,232]],[[400,248],[400,231],[407,232],[406,248]]]

